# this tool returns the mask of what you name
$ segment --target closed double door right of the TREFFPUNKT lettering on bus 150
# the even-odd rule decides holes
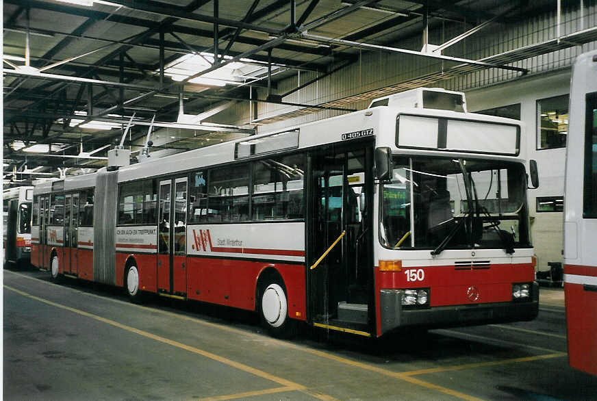
[[[161,294],[186,296],[186,200],[186,177],[160,181],[157,288]]]

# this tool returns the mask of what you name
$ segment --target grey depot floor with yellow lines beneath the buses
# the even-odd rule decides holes
[[[4,270],[4,400],[597,400],[568,367],[561,289],[533,322],[364,341],[251,313]]]

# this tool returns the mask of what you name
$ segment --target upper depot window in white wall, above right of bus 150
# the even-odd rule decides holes
[[[569,97],[565,94],[537,101],[537,150],[566,147]]]

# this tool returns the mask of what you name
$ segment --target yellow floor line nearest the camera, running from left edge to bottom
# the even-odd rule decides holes
[[[299,384],[294,383],[294,382],[292,382],[290,380],[286,380],[285,378],[274,376],[274,375],[269,374],[267,372],[264,372],[262,370],[255,369],[254,367],[251,367],[251,366],[248,366],[248,365],[244,365],[244,363],[232,361],[231,359],[227,359],[225,357],[220,357],[220,355],[213,354],[212,352],[208,352],[208,351],[205,351],[205,350],[200,350],[199,348],[194,348],[192,346],[188,346],[186,344],[179,343],[178,341],[173,341],[171,339],[167,339],[167,338],[161,337],[159,335],[151,334],[151,333],[148,333],[147,331],[142,331],[142,330],[139,330],[138,328],[134,328],[134,327],[131,327],[131,326],[127,326],[125,324],[121,324],[121,323],[115,322],[114,320],[102,318],[101,316],[94,315],[93,313],[88,313],[86,311],[81,311],[79,309],[67,307],[66,305],[58,304],[56,302],[52,302],[51,300],[47,300],[47,299],[44,299],[44,298],[40,298],[38,296],[34,296],[34,295],[31,295],[31,294],[28,294],[27,292],[20,291],[18,289],[15,289],[13,287],[8,286],[8,285],[4,285],[4,287],[6,289],[10,289],[13,292],[16,292],[17,294],[21,294],[22,296],[25,296],[27,298],[31,298],[31,299],[37,300],[39,302],[43,302],[43,303],[45,303],[47,305],[51,305],[53,307],[64,309],[66,311],[71,311],[73,313],[77,313],[79,315],[86,316],[86,317],[92,318],[94,320],[98,320],[99,322],[110,324],[111,326],[114,326],[114,327],[122,328],[125,331],[129,331],[131,333],[142,335],[143,337],[147,337],[147,338],[153,339],[155,341],[160,341],[163,344],[168,344],[170,346],[174,346],[174,347],[180,348],[182,350],[186,350],[186,351],[189,351],[189,352],[193,352],[195,354],[199,354],[199,355],[201,355],[203,357],[212,359],[214,361],[218,361],[218,362],[223,363],[225,365],[234,367],[234,368],[236,368],[238,370],[242,370],[244,372],[253,374],[255,376],[259,376],[259,377],[265,378],[267,380],[271,380],[272,382],[279,383],[280,385],[283,385],[284,387],[292,387],[292,389],[295,389],[295,390],[305,389],[305,386],[303,386],[303,385],[299,385]],[[315,396],[315,394],[316,393],[314,393],[314,396]],[[325,396],[325,395],[321,395],[319,398],[321,400],[329,400],[329,398],[327,398],[327,396]]]

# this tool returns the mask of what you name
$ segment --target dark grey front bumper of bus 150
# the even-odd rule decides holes
[[[539,286],[533,284],[530,300],[520,302],[495,302],[425,309],[403,309],[403,291],[381,289],[381,333],[397,328],[435,328],[446,326],[474,326],[498,322],[533,320],[539,313]]]

